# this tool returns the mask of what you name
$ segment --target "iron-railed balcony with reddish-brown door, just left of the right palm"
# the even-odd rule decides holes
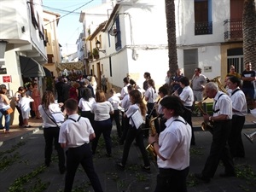
[[[224,40],[242,40],[242,20],[224,20]]]

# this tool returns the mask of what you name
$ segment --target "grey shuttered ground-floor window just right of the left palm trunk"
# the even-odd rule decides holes
[[[192,79],[195,67],[198,67],[198,50],[197,49],[184,49],[184,75]]]

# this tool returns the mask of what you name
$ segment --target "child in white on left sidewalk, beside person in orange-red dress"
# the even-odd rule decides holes
[[[24,127],[32,127],[31,125],[28,125],[28,119],[29,119],[29,113],[30,113],[30,102],[33,102],[34,100],[30,96],[26,96],[26,92],[21,93],[21,98],[19,101],[20,110],[23,117],[23,125]]]

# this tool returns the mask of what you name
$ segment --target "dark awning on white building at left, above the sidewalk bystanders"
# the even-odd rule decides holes
[[[20,55],[20,70],[24,78],[44,77],[44,68],[30,57]]]

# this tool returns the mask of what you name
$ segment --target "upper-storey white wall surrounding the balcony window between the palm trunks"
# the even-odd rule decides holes
[[[224,20],[230,18],[230,1],[212,0],[212,34],[195,35],[194,1],[176,0],[177,46],[224,42]]]

